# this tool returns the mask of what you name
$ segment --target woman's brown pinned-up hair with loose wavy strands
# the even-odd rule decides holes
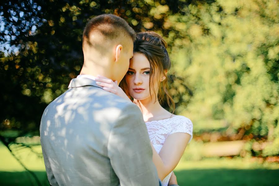
[[[168,77],[165,70],[170,69],[170,58],[166,50],[166,41],[157,33],[152,31],[138,33],[134,42],[134,53],[141,53],[145,55],[150,63],[150,78],[149,78],[149,91],[151,95],[151,88],[156,95],[154,88],[154,78],[164,76],[166,79],[159,83],[158,100],[159,103],[166,99],[170,108],[175,111],[175,103],[168,93]],[[128,91],[125,78],[120,82],[120,87],[131,98]],[[155,100],[156,102],[156,100]]]

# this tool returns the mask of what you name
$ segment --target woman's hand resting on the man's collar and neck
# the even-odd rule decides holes
[[[98,76],[95,80],[96,84],[102,86],[104,90],[131,101],[130,98],[125,94],[125,92],[118,86],[117,81],[113,82],[113,80],[108,79],[104,76]]]

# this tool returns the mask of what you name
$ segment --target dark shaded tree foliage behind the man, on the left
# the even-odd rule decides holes
[[[165,5],[160,17],[149,15],[159,5],[159,1],[144,0],[3,3],[0,85],[5,88],[0,93],[4,108],[0,113],[0,130],[38,135],[44,108],[66,91],[70,80],[80,72],[82,32],[89,19],[112,13],[123,17],[136,31],[159,29],[166,11],[170,10]],[[10,47],[5,48],[7,44]]]

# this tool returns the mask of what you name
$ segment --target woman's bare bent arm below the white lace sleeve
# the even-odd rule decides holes
[[[158,176],[163,180],[177,166],[184,150],[190,140],[188,133],[177,132],[170,134],[158,154],[152,145],[153,163],[155,164]]]

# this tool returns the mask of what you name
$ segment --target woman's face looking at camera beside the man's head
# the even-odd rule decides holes
[[[144,100],[155,96],[153,90],[149,91],[150,63],[145,55],[135,53],[130,60],[129,70],[125,75],[130,95],[136,100]],[[154,83],[155,92],[158,85]],[[153,100],[153,99],[152,99]]]

